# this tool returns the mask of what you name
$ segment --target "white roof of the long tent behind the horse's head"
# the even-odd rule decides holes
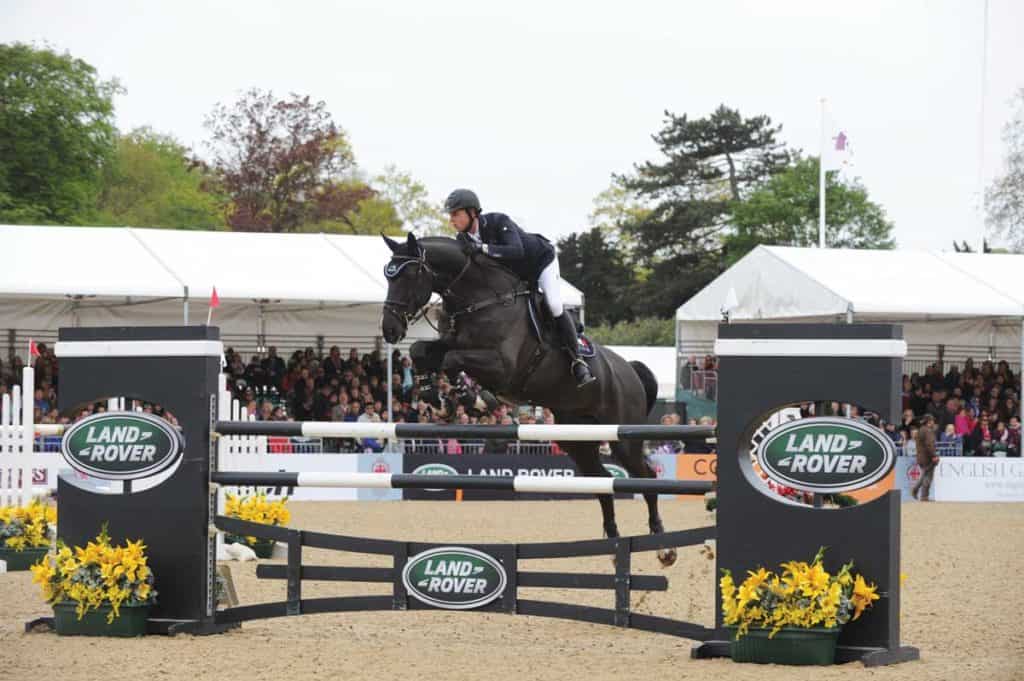
[[[383,303],[378,237],[0,225],[0,297]],[[563,300],[581,306],[562,282]]]

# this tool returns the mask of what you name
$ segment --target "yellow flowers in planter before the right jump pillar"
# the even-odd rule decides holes
[[[879,599],[876,585],[868,585],[844,565],[829,574],[821,560],[824,549],[810,563],[792,560],[780,565],[781,574],[766,570],[748,570],[738,587],[729,570],[719,582],[722,610],[726,625],[736,626],[736,638],[751,627],[771,629],[769,638],[782,627],[835,628],[856,620]]]

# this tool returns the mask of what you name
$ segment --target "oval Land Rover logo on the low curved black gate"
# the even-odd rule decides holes
[[[505,567],[492,556],[461,546],[442,546],[409,559],[401,570],[406,591],[434,607],[466,610],[486,605],[505,591]]]

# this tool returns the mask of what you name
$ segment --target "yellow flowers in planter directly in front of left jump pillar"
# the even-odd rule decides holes
[[[122,605],[144,605],[156,601],[153,571],[146,564],[145,546],[128,541],[114,546],[105,527],[85,548],[59,546],[56,555],[32,566],[32,581],[48,603],[75,601],[81,620],[100,605],[112,607],[106,622],[120,616]]]

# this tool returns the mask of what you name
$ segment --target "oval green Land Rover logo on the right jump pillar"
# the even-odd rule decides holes
[[[821,417],[774,428],[758,445],[757,457],[776,482],[833,494],[881,480],[896,461],[896,448],[866,423]]]

